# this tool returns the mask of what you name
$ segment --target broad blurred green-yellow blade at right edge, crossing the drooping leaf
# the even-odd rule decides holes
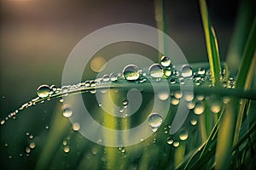
[[[253,22],[250,35],[247,39],[247,45],[244,49],[242,62],[236,79],[236,88],[250,88],[253,73],[250,73],[255,65],[255,42],[256,42],[256,20]],[[238,139],[239,129],[241,127],[241,117],[244,110],[241,109],[237,115],[239,99],[231,99],[231,107],[224,113],[221,126],[218,132],[218,144],[216,149],[216,169],[226,169],[230,167],[230,158],[232,154],[232,145],[234,139]],[[242,107],[242,106],[240,106]],[[239,119],[237,119],[237,117]],[[237,123],[237,125],[236,125]],[[236,131],[235,131],[236,128]],[[235,142],[236,142],[235,141]]]

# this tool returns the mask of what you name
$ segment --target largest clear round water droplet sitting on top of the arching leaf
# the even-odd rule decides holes
[[[137,65],[126,65],[123,70],[123,76],[128,81],[135,81],[140,77],[140,70]]]

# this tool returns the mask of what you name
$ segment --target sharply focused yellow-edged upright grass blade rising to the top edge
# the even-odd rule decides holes
[[[205,0],[200,0],[201,19],[205,31],[207,54],[212,74],[212,86],[216,86],[219,83],[220,59],[218,54],[218,42],[215,35],[212,23],[207,11],[207,3]]]

